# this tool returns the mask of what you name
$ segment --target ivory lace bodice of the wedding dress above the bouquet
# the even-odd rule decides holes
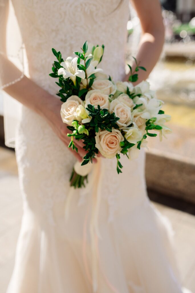
[[[17,2],[13,0],[17,14]],[[55,94],[57,86],[48,76],[54,56],[73,55],[88,40],[105,45],[101,67],[114,79],[124,75],[128,0],[20,0],[20,27],[25,44],[30,77]],[[119,5],[120,4],[120,5]],[[118,7],[119,6],[119,7]]]

